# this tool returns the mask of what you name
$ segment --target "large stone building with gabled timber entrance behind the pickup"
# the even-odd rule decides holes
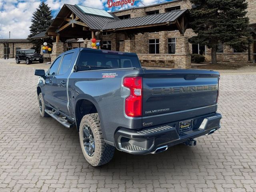
[[[246,52],[220,44],[218,62],[256,60],[256,0],[247,2],[254,43]],[[188,22],[191,8],[189,0],[173,0],[102,14],[102,10],[64,4],[45,33],[56,38],[51,58],[71,48],[91,47],[90,39],[96,38],[101,49],[135,52],[143,66],[190,68],[191,54],[211,54],[204,45],[188,43],[194,35]]]

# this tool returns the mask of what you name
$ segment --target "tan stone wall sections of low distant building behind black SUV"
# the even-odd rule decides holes
[[[31,49],[31,48],[33,48],[33,44],[32,43],[9,43],[9,47],[10,47],[9,58],[15,58],[16,48]],[[14,52],[12,51],[13,49],[14,49]],[[4,44],[3,43],[0,43],[0,58],[4,58]]]

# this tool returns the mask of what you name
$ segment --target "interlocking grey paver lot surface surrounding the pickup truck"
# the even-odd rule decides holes
[[[36,68],[0,60],[0,192],[255,192],[256,67],[221,71],[222,128],[159,154],[90,166],[78,133],[39,114]]]

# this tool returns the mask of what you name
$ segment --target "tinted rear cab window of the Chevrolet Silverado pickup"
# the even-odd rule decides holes
[[[81,52],[77,62],[78,70],[99,70],[108,68],[140,68],[138,57],[129,54]]]

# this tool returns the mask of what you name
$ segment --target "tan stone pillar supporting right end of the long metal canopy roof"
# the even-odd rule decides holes
[[[191,55],[187,37],[180,36],[176,38],[175,54],[179,55],[179,59],[175,60],[174,68],[191,68]]]

